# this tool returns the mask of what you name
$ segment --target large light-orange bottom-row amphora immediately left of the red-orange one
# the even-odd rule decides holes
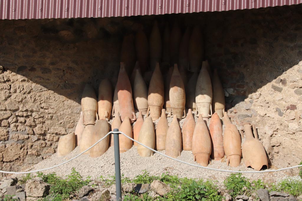
[[[211,137],[202,115],[199,114],[192,138],[194,161],[206,167],[210,162],[211,150]]]

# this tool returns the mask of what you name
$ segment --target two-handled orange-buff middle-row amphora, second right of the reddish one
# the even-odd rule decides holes
[[[159,63],[156,64],[155,70],[150,80],[149,91],[148,91],[148,111],[153,122],[159,119],[160,111],[164,105],[164,81],[162,73],[159,69]]]

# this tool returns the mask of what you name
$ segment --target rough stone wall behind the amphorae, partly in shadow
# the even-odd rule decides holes
[[[201,24],[205,59],[218,68],[232,121],[256,124],[275,167],[302,159],[301,5],[116,18],[0,20],[0,169],[56,152],[75,129],[85,83],[117,80],[122,37],[154,19]]]

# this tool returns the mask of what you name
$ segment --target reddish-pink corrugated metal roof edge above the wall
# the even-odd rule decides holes
[[[0,0],[0,19],[158,15],[301,3],[302,0]]]

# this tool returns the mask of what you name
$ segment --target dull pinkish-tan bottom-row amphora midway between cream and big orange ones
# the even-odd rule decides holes
[[[177,118],[173,118],[166,137],[166,155],[176,158],[182,152],[182,131]]]

